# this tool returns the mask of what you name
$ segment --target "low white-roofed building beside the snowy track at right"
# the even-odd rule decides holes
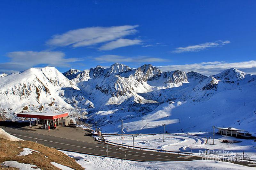
[[[234,137],[251,137],[248,131],[236,128],[217,128],[220,135],[234,136]]]

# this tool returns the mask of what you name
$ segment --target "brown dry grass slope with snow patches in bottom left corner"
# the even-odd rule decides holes
[[[23,151],[22,148],[30,148],[37,152],[32,152],[27,156],[18,156]],[[47,158],[46,158],[46,157]],[[76,161],[56,149],[46,147],[30,141],[8,141],[0,138],[0,164],[7,160],[17,161],[19,163],[33,164],[40,169],[58,169],[51,162],[56,162],[72,169],[82,170],[83,168]],[[0,169],[16,169],[3,168]]]

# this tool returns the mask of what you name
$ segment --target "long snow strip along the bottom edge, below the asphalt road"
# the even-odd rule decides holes
[[[253,167],[237,165],[229,162],[194,160],[194,161],[170,161],[170,162],[136,162],[123,159],[106,158],[81,154],[76,152],[61,151],[71,158],[79,158],[76,162],[83,168],[90,170],[145,170],[145,169],[230,169],[249,170]]]

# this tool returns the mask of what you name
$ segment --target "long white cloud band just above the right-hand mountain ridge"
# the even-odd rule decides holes
[[[227,63],[227,62],[203,62],[194,64],[183,64],[183,65],[168,65],[168,66],[157,66],[161,71],[173,71],[183,70],[185,72],[196,71],[198,73],[210,76],[218,74],[223,70],[229,68],[236,68],[241,71],[245,71],[250,74],[256,74],[256,60]]]

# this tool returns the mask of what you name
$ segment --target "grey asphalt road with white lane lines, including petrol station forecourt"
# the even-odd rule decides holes
[[[131,148],[116,147],[95,141],[94,138],[89,136],[81,136],[82,129],[76,129],[80,134],[77,138],[70,137],[71,133],[74,136],[74,132],[71,131],[70,135],[59,135],[57,132],[48,132],[47,130],[34,130],[29,128],[9,128],[3,127],[6,132],[13,136],[19,137],[23,140],[37,142],[44,144],[45,146],[56,148],[59,150],[79,152],[85,154],[92,154],[97,156],[108,156],[112,158],[134,160],[134,161],[191,161],[200,160],[201,157],[195,157],[191,155],[172,154],[164,152],[151,152],[135,150]],[[84,134],[84,131],[82,131]],[[55,135],[53,135],[55,134]],[[58,135],[57,135],[58,134]],[[76,134],[75,134],[76,135]],[[108,149],[107,149],[108,148]],[[108,152],[107,152],[108,150]],[[255,163],[249,162],[233,162],[245,166],[255,166]]]

